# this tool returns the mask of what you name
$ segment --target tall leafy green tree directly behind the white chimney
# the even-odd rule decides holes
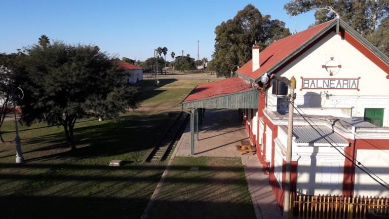
[[[230,77],[234,66],[243,65],[251,59],[251,48],[255,42],[262,50],[275,40],[290,35],[290,32],[284,22],[270,20],[270,15],[262,16],[249,4],[234,18],[216,26],[215,34],[213,67],[219,76]]]

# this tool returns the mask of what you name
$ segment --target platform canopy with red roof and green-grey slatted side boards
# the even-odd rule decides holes
[[[258,90],[240,77],[198,85],[181,102],[182,108],[258,108]]]

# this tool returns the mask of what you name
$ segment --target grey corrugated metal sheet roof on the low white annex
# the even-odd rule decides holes
[[[336,144],[348,146],[348,141],[325,126],[293,126],[295,141],[299,144]]]

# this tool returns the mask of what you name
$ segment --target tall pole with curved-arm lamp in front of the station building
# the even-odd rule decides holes
[[[293,137],[293,109],[294,109],[294,89],[296,89],[296,79],[292,76],[290,80],[285,77],[271,75],[289,86],[289,115],[288,115],[288,139],[286,145],[286,165],[285,165],[285,189],[284,189],[284,218],[291,218],[290,215],[290,178],[292,172],[292,137]],[[261,82],[266,84],[269,81],[267,73],[261,77]]]

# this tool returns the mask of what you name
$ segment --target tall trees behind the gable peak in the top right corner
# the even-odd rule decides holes
[[[389,2],[387,0],[294,0],[287,3],[284,9],[291,16],[316,10],[316,24],[335,18],[336,14],[334,12],[336,12],[340,19],[388,55],[384,48],[387,45],[385,45],[385,42],[389,41],[389,35],[382,35],[382,30],[387,27],[387,24],[383,23],[389,13]],[[381,24],[383,26],[380,28]],[[378,29],[379,31],[376,31]]]

